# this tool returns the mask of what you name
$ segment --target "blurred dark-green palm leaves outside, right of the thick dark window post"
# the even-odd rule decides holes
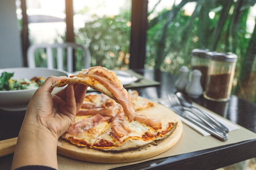
[[[196,2],[192,15],[186,15],[183,9],[188,2]],[[247,29],[249,11],[255,3],[256,0],[182,0],[173,4],[171,10],[163,10],[149,21],[145,67],[177,74],[182,65],[189,66],[190,53],[195,48],[236,53],[238,84],[233,93],[240,93],[252,74],[256,55],[255,26],[253,33]]]

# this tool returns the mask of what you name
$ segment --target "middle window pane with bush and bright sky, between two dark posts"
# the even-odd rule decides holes
[[[89,47],[92,66],[128,69],[131,1],[74,0],[75,6],[74,25],[76,18],[84,18],[75,29],[76,42]]]

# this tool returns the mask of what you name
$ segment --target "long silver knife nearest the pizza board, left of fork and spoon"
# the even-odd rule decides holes
[[[185,112],[182,112],[181,110],[178,110],[177,108],[175,107],[171,107],[169,106],[168,104],[166,104],[165,102],[161,102],[161,101],[158,101],[159,104],[162,104],[163,106],[173,110],[175,113],[177,113],[177,115],[180,115],[181,117],[183,117],[184,119],[187,119],[188,121],[192,122],[193,124],[199,126],[200,128],[202,128],[203,130],[209,132],[211,135],[217,137],[218,139],[221,139],[223,141],[227,141],[228,137],[221,134],[221,133],[218,133],[216,132],[215,130],[205,126],[204,124],[200,123],[199,121],[197,121],[196,119],[194,119],[193,117],[187,115]]]

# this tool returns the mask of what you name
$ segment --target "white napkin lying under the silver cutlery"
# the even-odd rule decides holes
[[[157,99],[157,101],[161,101],[164,102],[168,105],[168,99]],[[231,121],[225,119],[224,117],[220,117],[216,114],[213,114],[211,112],[209,112],[206,108],[200,107],[202,110],[206,111],[211,117],[213,117],[214,119],[218,120],[220,123],[222,123],[223,125],[225,125],[227,128],[229,128],[229,131],[234,131],[234,130],[238,130],[240,129],[239,126],[237,126],[236,124],[232,123]],[[195,110],[194,110],[195,111]],[[191,115],[191,113],[189,114]],[[194,129],[195,131],[197,131],[198,133],[200,133],[203,136],[210,136],[211,134],[205,130],[203,130],[202,128],[200,128],[199,126],[193,124],[191,121],[184,119],[183,117],[181,117],[180,115],[178,115],[181,119],[181,121],[186,124],[187,126],[191,127],[192,129]],[[197,117],[195,117],[195,119],[198,119]]]

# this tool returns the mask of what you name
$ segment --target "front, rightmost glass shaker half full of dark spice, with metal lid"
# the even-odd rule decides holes
[[[204,97],[225,102],[230,99],[237,55],[234,53],[212,53],[210,55]]]

